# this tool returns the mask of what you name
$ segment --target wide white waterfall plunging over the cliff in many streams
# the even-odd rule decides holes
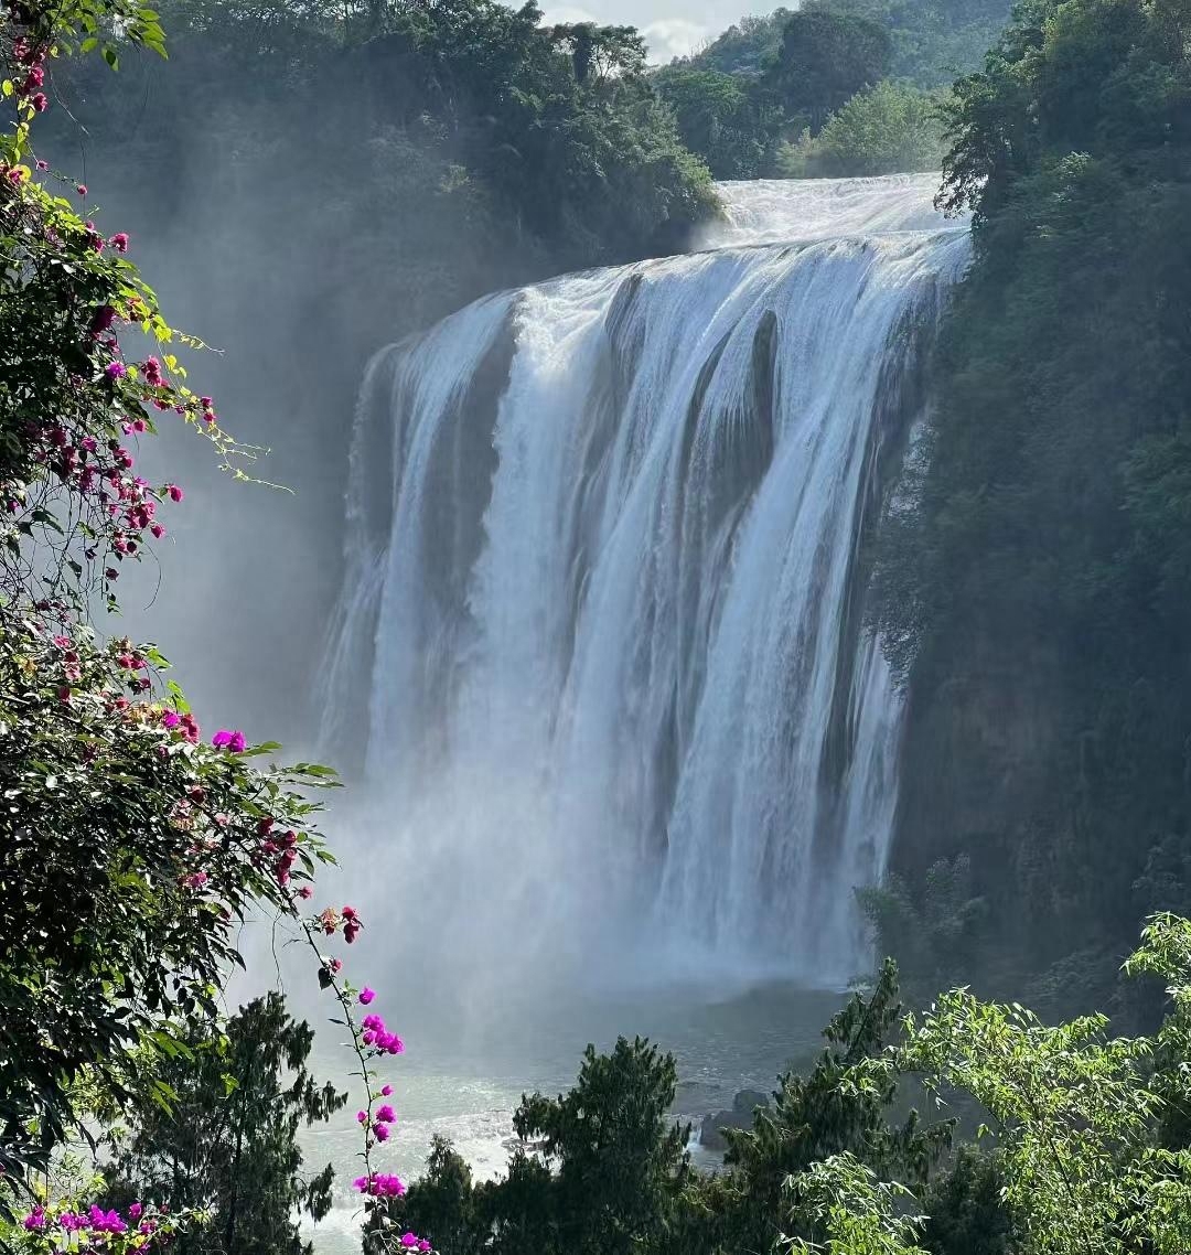
[[[935,182],[724,184],[705,251],[373,361],[324,734],[464,965],[865,965],[901,702],[862,542],[968,257]]]

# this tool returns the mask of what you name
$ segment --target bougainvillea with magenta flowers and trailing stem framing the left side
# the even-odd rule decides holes
[[[238,730],[205,745],[181,690],[146,697],[164,659],[129,641],[100,646],[87,626],[92,597],[114,610],[122,563],[166,535],[158,508],[184,497],[134,473],[129,443],[154,433],[154,415],[196,428],[238,478],[256,451],[186,384],[171,346],[203,345],[166,323],[127,260],[128,235],[104,236],[77,208],[85,184],[61,196],[38,177],[48,164],[31,123],[49,108],[53,60],[99,48],[114,68],[118,43],[164,55],[156,14],[142,0],[0,4],[0,94],[14,118],[0,133],[0,791],[10,802],[0,821],[0,1171],[21,1182],[49,1162],[67,1122],[80,1122],[70,1092],[80,1072],[118,1099],[131,1048],[178,1045],[172,1013],[216,1017],[218,984],[242,963],[233,925],[250,907],[295,919],[316,954],[319,935],[341,931],[351,944],[361,925],[351,907],[301,914],[315,863],[331,857],[306,822],[318,807],[299,791],[331,773],[306,763],[261,772],[250,759],[277,747],[250,747]],[[126,329],[157,350],[131,355]],[[404,1047],[378,1014],[356,1020],[371,990],[339,979],[339,960],[319,963],[366,1091],[355,1186],[373,1210],[405,1186],[373,1166],[395,1113],[370,1062]],[[41,1201],[21,1231],[39,1250],[61,1239],[124,1255],[183,1224],[164,1216]],[[430,1250],[389,1225],[380,1250]]]

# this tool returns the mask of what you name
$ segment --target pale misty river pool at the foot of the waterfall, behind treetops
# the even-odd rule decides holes
[[[384,1167],[402,1176],[424,1171],[430,1138],[441,1133],[472,1165],[478,1178],[499,1175],[513,1138],[512,1114],[523,1093],[557,1094],[575,1083],[587,1043],[597,1049],[617,1035],[648,1037],[671,1052],[679,1086],[674,1114],[692,1122],[694,1162],[714,1167],[718,1156],[698,1145],[703,1117],[732,1107],[742,1089],[769,1093],[778,1074],[802,1067],[818,1050],[821,1033],[843,1000],[838,993],[766,984],[735,994],[670,986],[631,995],[592,998],[576,991],[533,1007],[506,1003],[482,1022],[444,1019],[441,1009],[410,1008],[400,1017],[407,1053],[383,1069],[394,1086],[398,1123],[383,1148]],[[320,1028],[315,1074],[341,1077],[350,1063],[329,1049],[334,1029]],[[318,1226],[305,1226],[318,1255],[358,1255],[363,1214],[350,1188],[360,1173],[359,1127],[349,1104],[329,1124],[302,1136],[307,1168],[331,1162],[335,1207]]]

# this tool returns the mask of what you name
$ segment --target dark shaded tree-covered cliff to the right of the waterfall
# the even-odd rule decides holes
[[[886,537],[901,867],[969,858],[991,966],[1053,965],[1077,1005],[1141,916],[1191,906],[1188,33],[1186,4],[1032,3],[958,85],[976,259]]]

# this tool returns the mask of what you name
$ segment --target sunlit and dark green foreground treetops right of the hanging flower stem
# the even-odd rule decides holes
[[[710,1175],[665,1119],[673,1060],[624,1039],[589,1049],[569,1094],[523,1101],[503,1180],[477,1183],[439,1140],[389,1207],[462,1255],[1176,1255],[1191,1225],[1191,922],[1152,919],[1127,974],[1167,985],[1152,1037],[1113,1037],[1104,1015],[1048,1025],[968,990],[904,1017],[886,964]],[[961,1121],[921,1122],[911,1094],[954,1104],[969,1142],[950,1155]]]

